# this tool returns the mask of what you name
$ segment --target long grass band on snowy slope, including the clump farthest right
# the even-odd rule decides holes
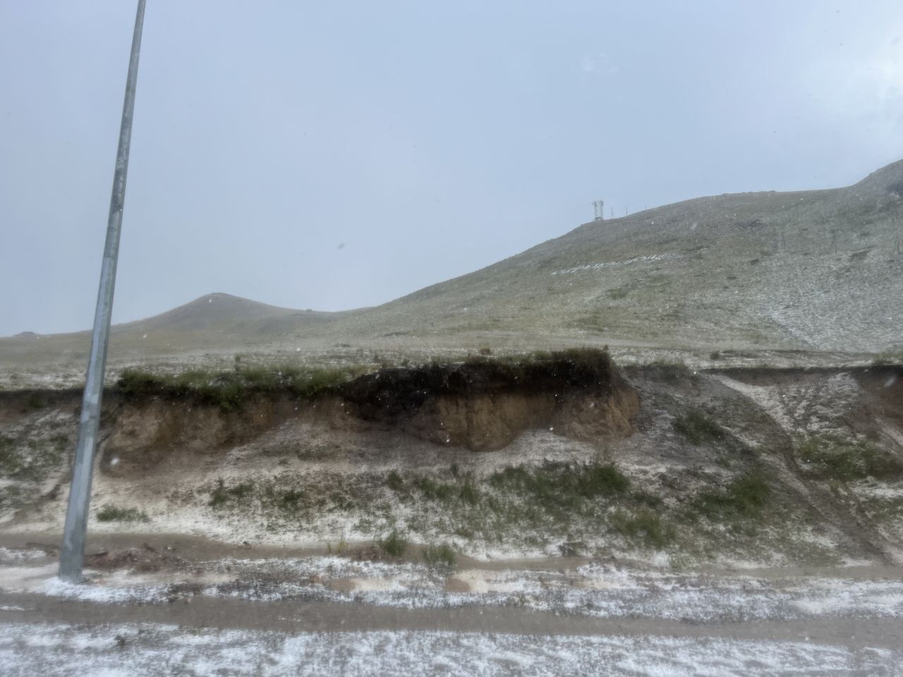
[[[764,469],[723,482],[720,473],[678,473],[639,487],[602,459],[547,460],[485,474],[450,464],[424,472],[336,472],[315,480],[293,472],[253,482],[215,480],[200,496],[214,515],[250,520],[263,532],[313,528],[325,536],[350,529],[349,538],[372,541],[364,551],[372,559],[402,557],[410,554],[409,542],[428,543],[418,557],[436,566],[453,561],[456,551],[495,548],[590,557],[665,550],[685,561],[724,552],[753,559],[795,552],[801,561],[827,556],[817,544],[797,543],[806,508],[781,500],[780,485],[772,486]],[[662,488],[656,488],[659,482]],[[778,519],[786,528],[776,532],[770,525]],[[332,540],[328,550],[342,554],[348,545]]]

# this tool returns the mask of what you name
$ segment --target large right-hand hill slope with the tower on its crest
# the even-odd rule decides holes
[[[882,350],[903,340],[901,194],[903,161],[848,188],[591,222],[317,330]]]

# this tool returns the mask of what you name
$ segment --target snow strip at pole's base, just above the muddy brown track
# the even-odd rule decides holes
[[[0,569],[0,589],[100,604],[156,603],[179,584],[210,597],[310,600],[399,608],[524,607],[616,618],[699,623],[812,617],[903,618],[903,581],[765,578],[619,569],[437,569],[341,557],[206,562],[186,579],[88,571],[88,582],[56,578],[55,565]],[[175,586],[173,588],[172,586]],[[179,593],[182,594],[182,593]],[[191,593],[187,593],[191,594]]]

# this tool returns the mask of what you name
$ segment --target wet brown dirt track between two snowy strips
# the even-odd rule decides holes
[[[21,607],[23,610],[6,610]],[[0,595],[0,623],[119,625],[174,623],[183,627],[307,632],[479,632],[515,635],[656,635],[851,648],[899,648],[903,618],[820,618],[748,623],[684,623],[650,618],[587,618],[528,609],[466,607],[405,609],[356,604],[191,598],[190,604],[120,606],[41,595]]]

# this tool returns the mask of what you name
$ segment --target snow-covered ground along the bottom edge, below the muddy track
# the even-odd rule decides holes
[[[154,624],[0,625],[7,677],[79,675],[892,674],[903,651],[721,638],[379,631],[301,633]]]

